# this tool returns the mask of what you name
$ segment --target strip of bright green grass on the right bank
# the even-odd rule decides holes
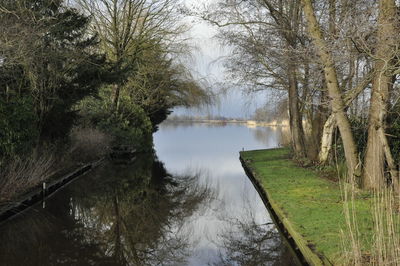
[[[279,218],[290,227],[288,231],[295,241],[317,257],[339,264],[344,250],[343,239],[345,243],[347,240],[341,234],[341,229],[346,234],[347,226],[339,184],[321,178],[313,169],[297,166],[290,159],[288,149],[246,151],[241,157],[266,191]],[[365,193],[355,200],[359,230],[364,236],[372,234],[370,202]],[[368,249],[370,244],[365,242],[362,246]],[[324,261],[307,260],[311,264]]]

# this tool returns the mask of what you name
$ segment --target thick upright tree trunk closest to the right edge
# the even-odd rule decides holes
[[[375,77],[372,84],[370,100],[368,141],[365,154],[363,186],[367,189],[380,188],[385,184],[385,119],[389,96],[389,87],[392,82],[390,68],[395,56],[394,47],[397,43],[395,0],[381,0],[379,2],[378,40],[375,53]],[[385,143],[386,142],[386,143]],[[389,147],[387,146],[386,149]],[[386,150],[386,159],[391,154]]]

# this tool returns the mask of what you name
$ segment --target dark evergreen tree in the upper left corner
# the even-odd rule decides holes
[[[5,142],[25,145],[12,136],[26,121],[11,120],[26,113],[27,103],[35,114],[30,126],[40,139],[55,139],[73,124],[71,107],[101,85],[105,60],[96,52],[96,36],[88,35],[89,17],[63,2],[0,0],[0,110],[13,102],[19,106],[13,117],[0,114],[15,125],[1,129],[0,153],[6,153]]]

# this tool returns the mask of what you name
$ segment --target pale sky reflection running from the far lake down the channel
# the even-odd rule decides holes
[[[154,136],[158,158],[168,172],[185,174],[200,170],[213,189],[216,199],[201,213],[186,222],[186,230],[199,239],[190,265],[217,263],[222,243],[219,236],[232,228],[232,221],[254,219],[257,224],[270,222],[269,215],[239,161],[239,151],[277,147],[280,130],[247,128],[244,125],[161,126]]]

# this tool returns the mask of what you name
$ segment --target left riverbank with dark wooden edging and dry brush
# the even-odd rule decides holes
[[[93,147],[93,145],[88,146]],[[100,165],[107,158],[114,164],[130,164],[136,159],[138,153],[133,146],[115,146],[110,149],[104,148],[103,152],[96,152],[95,149],[92,149],[92,154],[88,156],[87,153],[90,151],[86,148],[80,147],[80,149],[77,149],[77,151],[81,153],[81,160],[74,161],[72,158],[69,158],[69,160],[64,161],[64,164],[58,165],[49,161],[49,159],[47,159],[49,163],[39,163],[38,165],[33,165],[33,163],[29,161],[27,167],[13,169],[16,173],[10,178],[11,181],[8,184],[4,184],[7,185],[6,188],[8,189],[12,186],[18,186],[18,189],[14,189],[12,193],[9,193],[6,200],[2,197],[2,193],[0,193],[0,224],[25,211],[36,203],[44,201],[76,178],[85,175]],[[98,144],[97,148],[102,149],[101,144]],[[105,153],[105,151],[107,151],[107,153]],[[75,157],[75,159],[79,158],[76,154]],[[34,160],[33,162],[37,161],[40,162],[40,160]],[[41,166],[48,167],[51,170],[32,170],[32,168],[41,168]],[[21,178],[21,175],[26,176]],[[2,190],[0,190],[0,192],[2,192]]]

